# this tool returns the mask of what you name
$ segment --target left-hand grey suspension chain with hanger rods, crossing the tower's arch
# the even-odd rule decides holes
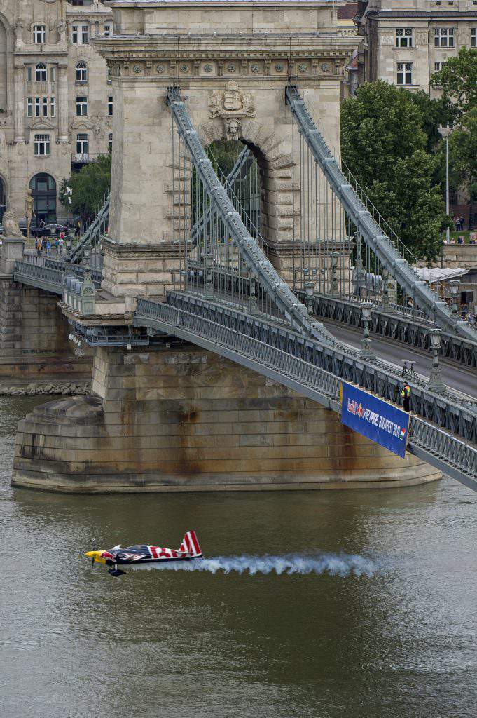
[[[251,236],[222,186],[212,162],[202,147],[197,131],[181,100],[178,88],[169,88],[168,104],[172,114],[174,270],[176,289],[214,292],[222,299],[250,302],[251,311],[268,314],[278,322],[287,322],[308,336],[321,336],[333,342],[323,325],[308,318],[306,307],[298,300],[283,277],[265,256],[257,238]],[[174,139],[174,129],[178,139]],[[191,227],[213,206],[200,238],[192,241]],[[176,236],[176,235],[179,236]]]

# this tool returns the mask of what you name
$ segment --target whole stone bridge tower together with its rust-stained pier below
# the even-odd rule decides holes
[[[280,267],[293,228],[297,83],[339,146],[341,72],[355,37],[326,0],[118,0],[114,37],[95,40],[113,77],[113,179],[97,322],[124,323],[138,295],[171,281],[174,156],[166,88],[180,85],[204,144],[242,139],[263,178],[265,237]],[[352,31],[351,31],[352,32]],[[109,308],[108,308],[109,307]],[[113,316],[115,315],[115,316]],[[350,488],[435,479],[339,418],[250,369],[164,339],[97,348],[92,396],[37,407],[20,423],[15,485],[62,491]]]

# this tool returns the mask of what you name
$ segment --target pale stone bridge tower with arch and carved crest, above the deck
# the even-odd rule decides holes
[[[160,296],[171,279],[174,156],[166,88],[179,85],[202,142],[241,139],[258,160],[263,234],[280,269],[291,254],[296,83],[339,152],[343,67],[356,45],[328,0],[118,0],[114,37],[95,40],[113,80],[113,177],[103,288]],[[177,169],[177,168],[176,168]],[[299,201],[295,202],[294,213]],[[117,309],[118,304],[115,303]]]

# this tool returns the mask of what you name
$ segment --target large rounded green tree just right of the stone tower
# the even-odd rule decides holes
[[[433,259],[447,220],[422,123],[410,93],[367,83],[341,105],[341,154],[397,236],[417,258]]]

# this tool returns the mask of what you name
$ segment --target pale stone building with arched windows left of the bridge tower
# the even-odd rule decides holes
[[[2,2],[0,220],[7,207],[24,216],[28,188],[38,220],[64,218],[62,180],[112,146],[108,67],[90,40],[113,32],[93,0]]]

